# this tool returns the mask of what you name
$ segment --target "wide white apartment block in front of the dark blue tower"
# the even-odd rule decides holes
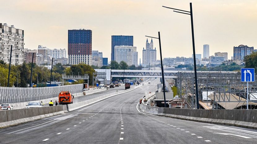
[[[128,65],[138,66],[137,61],[137,47],[135,46],[115,46],[114,47],[114,60],[118,63],[125,61]]]

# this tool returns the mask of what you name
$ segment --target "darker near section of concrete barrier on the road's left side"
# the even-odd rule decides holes
[[[0,111],[0,128],[36,121],[41,118],[67,112],[66,105]]]

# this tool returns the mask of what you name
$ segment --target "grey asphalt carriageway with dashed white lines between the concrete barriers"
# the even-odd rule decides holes
[[[0,130],[0,143],[255,143],[257,130],[159,117],[138,101],[144,85],[70,113]]]

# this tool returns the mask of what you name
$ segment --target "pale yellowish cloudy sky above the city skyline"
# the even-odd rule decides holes
[[[24,30],[24,48],[68,50],[68,30],[92,30],[92,50],[111,58],[111,35],[133,35],[138,61],[146,47],[145,35],[158,37],[162,57],[191,57],[190,15],[172,8],[190,10],[193,6],[196,54],[210,45],[210,56],[248,45],[257,49],[256,0],[9,0],[1,2],[0,23]],[[153,39],[160,59],[158,39]],[[68,52],[67,52],[68,53]]]

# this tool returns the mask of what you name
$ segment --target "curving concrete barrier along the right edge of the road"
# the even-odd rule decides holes
[[[182,120],[257,129],[257,111],[244,109],[175,109],[140,105],[143,112]]]

